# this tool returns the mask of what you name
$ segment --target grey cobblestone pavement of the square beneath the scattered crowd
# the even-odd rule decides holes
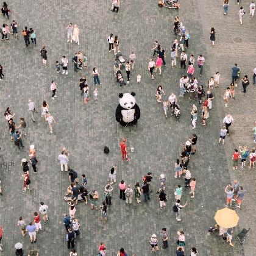
[[[253,118],[244,118],[246,132],[241,135],[241,119],[253,109],[246,105],[246,99],[253,99],[252,86],[246,98],[238,95],[239,104],[230,104],[230,110],[237,121],[232,129],[230,141],[225,147],[218,144],[218,132],[224,110],[222,102],[222,89],[224,83],[230,79],[230,69],[234,62],[243,63],[243,71],[251,72],[253,58],[248,45],[255,49],[255,44],[242,39],[242,43],[235,43],[237,27],[232,27],[238,21],[236,11],[238,7],[233,4],[225,23],[222,17],[222,2],[191,0],[183,1],[182,9],[160,9],[157,1],[124,1],[118,14],[110,12],[111,1],[12,1],[10,20],[16,20],[21,26],[33,27],[37,34],[37,46],[30,44],[26,49],[23,38],[11,38],[1,44],[5,81],[1,82],[2,112],[6,107],[11,107],[15,112],[15,122],[21,116],[27,119],[28,138],[24,140],[25,149],[17,151],[9,143],[7,126],[4,118],[1,125],[1,170],[3,195],[0,198],[1,225],[4,233],[4,251],[2,255],[13,255],[14,244],[18,241],[24,244],[27,252],[30,248],[40,250],[40,255],[68,255],[65,242],[65,229],[62,224],[62,215],[68,212],[68,205],[63,201],[66,187],[68,187],[67,174],[60,172],[57,156],[60,148],[66,146],[71,152],[69,163],[78,174],[85,173],[88,177],[88,188],[96,189],[102,200],[102,191],[107,183],[108,169],[114,164],[118,165],[117,181],[124,179],[126,183],[141,182],[141,177],[148,171],[154,174],[154,192],[158,188],[158,177],[163,172],[168,179],[167,194],[169,200],[166,210],[160,211],[155,193],[149,204],[126,205],[118,198],[118,187],[115,185],[113,205],[109,208],[109,221],[107,224],[99,223],[99,213],[92,212],[89,205],[77,207],[77,218],[81,224],[81,235],[77,239],[76,249],[78,255],[96,255],[100,241],[105,241],[108,255],[116,255],[120,247],[126,248],[129,255],[150,255],[149,237],[152,233],[159,232],[162,227],[169,229],[169,248],[161,250],[159,255],[175,255],[177,230],[184,230],[186,236],[186,255],[190,248],[196,246],[199,255],[253,255],[254,231],[251,232],[249,245],[240,246],[235,241],[235,247],[230,248],[218,234],[209,234],[208,227],[215,224],[216,210],[224,207],[224,187],[230,179],[238,177],[246,184],[246,200],[244,208],[239,211],[241,225],[235,229],[235,234],[242,227],[253,227],[254,220],[250,219],[254,203],[249,205],[249,198],[253,196],[255,179],[252,172],[244,170],[236,173],[230,171],[230,155],[234,145],[242,142],[252,146],[251,129]],[[99,4],[99,3],[100,4]],[[248,1],[246,1],[248,4]],[[248,4],[249,5],[249,4]],[[43,11],[42,11],[43,10]],[[191,31],[191,44],[188,54],[194,52],[197,56],[205,55],[206,64],[200,83],[210,77],[218,68],[221,71],[221,86],[216,93],[210,118],[207,126],[202,127],[197,122],[197,129],[192,130],[190,124],[191,102],[188,98],[179,99],[181,108],[180,121],[172,116],[165,119],[162,105],[155,101],[155,90],[162,84],[168,95],[174,91],[177,95],[179,78],[183,74],[179,68],[171,69],[169,49],[174,40],[172,35],[172,20],[175,15],[182,18],[183,23]],[[1,19],[2,23],[4,20]],[[78,24],[80,29],[80,46],[66,43],[65,27],[69,22]],[[253,21],[244,19],[241,31],[247,31]],[[238,23],[238,22],[237,22]],[[247,23],[247,24],[246,24]],[[223,24],[226,24],[222,30]],[[217,30],[216,48],[210,49],[208,45],[208,30],[215,26]],[[21,31],[21,30],[20,30]],[[121,52],[125,56],[130,51],[137,54],[135,69],[131,72],[130,84],[119,88],[112,73],[113,54],[108,52],[106,38],[112,32],[118,35],[121,41]],[[252,34],[247,34],[251,40]],[[167,50],[166,67],[162,76],[151,80],[146,69],[151,47],[154,40],[158,39]],[[41,65],[40,47],[46,44],[48,50],[48,66]],[[233,46],[230,47],[230,46]],[[245,49],[246,48],[246,49]],[[71,57],[75,51],[83,51],[88,56],[88,70],[74,74]],[[230,51],[230,52],[229,52]],[[239,59],[235,54],[239,54]],[[55,74],[55,60],[60,60],[62,55],[69,57],[68,76]],[[247,58],[250,56],[249,61]],[[221,59],[221,60],[219,60]],[[99,87],[99,101],[90,101],[88,105],[82,104],[78,80],[80,75],[88,76],[88,83],[94,88],[91,71],[97,66],[101,75],[102,87]],[[141,84],[136,84],[136,76],[140,73]],[[196,76],[199,73],[196,70]],[[57,99],[52,101],[49,86],[51,80],[57,82]],[[222,82],[223,81],[223,82]],[[226,87],[226,85],[225,85]],[[221,91],[222,90],[222,91]],[[115,121],[115,108],[118,104],[118,93],[136,93],[137,104],[141,108],[141,118],[136,127],[123,128]],[[239,90],[237,88],[238,94]],[[40,115],[36,123],[32,123],[27,113],[27,100],[32,98],[37,106],[45,99],[50,107],[57,124],[54,125],[54,134],[50,135],[46,124]],[[92,97],[91,97],[92,98]],[[255,114],[255,113],[254,113]],[[236,130],[235,130],[236,129]],[[173,166],[179,157],[182,143],[191,133],[199,136],[198,152],[191,158],[190,169],[197,179],[196,197],[192,200],[185,190],[182,203],[188,200],[188,206],[182,210],[182,221],[176,222],[172,205],[174,202],[173,188],[178,181],[174,179]],[[123,163],[120,159],[118,143],[122,137],[128,138],[128,146],[134,147],[130,153],[132,161]],[[21,193],[22,178],[20,160],[28,157],[29,144],[35,144],[38,156],[38,174],[31,174],[32,184],[30,191]],[[104,146],[110,148],[110,154],[103,153]],[[231,173],[230,173],[231,172]],[[230,177],[231,174],[231,177]],[[251,180],[251,182],[249,182]],[[183,181],[181,181],[183,184]],[[39,202],[44,201],[49,205],[50,222],[43,225],[43,231],[38,234],[37,244],[31,245],[29,238],[21,238],[16,226],[19,216],[23,216],[28,223],[32,214],[38,210]],[[251,200],[252,201],[252,200]],[[251,202],[250,202],[251,203]],[[240,213],[241,212],[241,213]],[[249,212],[251,214],[246,214]]]

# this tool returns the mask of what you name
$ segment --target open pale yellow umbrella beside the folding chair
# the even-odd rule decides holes
[[[236,212],[229,208],[218,210],[214,218],[219,226],[225,227],[226,229],[229,229],[229,227],[235,227],[239,220],[239,216]]]

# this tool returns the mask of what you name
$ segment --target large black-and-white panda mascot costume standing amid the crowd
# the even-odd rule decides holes
[[[140,108],[134,98],[135,93],[119,93],[119,104],[116,108],[116,121],[122,126],[135,126],[140,118]]]

